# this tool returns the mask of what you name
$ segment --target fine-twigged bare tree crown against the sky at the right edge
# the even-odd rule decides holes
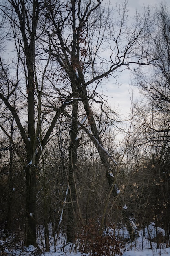
[[[145,126],[154,132],[169,131],[169,90],[170,90],[170,13],[165,4],[155,9],[155,25],[150,34],[152,45],[152,66],[148,73],[137,70],[136,77],[142,93],[148,100]],[[140,111],[140,109],[139,109]],[[153,121],[154,120],[154,121]]]

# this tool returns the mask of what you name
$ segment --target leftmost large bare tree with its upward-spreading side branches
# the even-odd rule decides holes
[[[16,58],[13,57],[10,65],[11,76],[15,70],[15,79],[9,78],[4,62],[1,61],[4,76],[0,88],[0,99],[4,104],[2,106],[6,106],[13,115],[26,148],[26,159],[21,159],[26,173],[26,246],[30,244],[37,246],[36,180],[38,162],[58,117],[69,104],[66,99],[65,105],[62,104],[60,108],[55,109],[51,123],[47,126],[46,133],[43,133],[44,136],[42,138],[42,92],[49,58],[47,56],[44,70],[41,70],[41,78],[39,79],[40,76],[36,69],[37,54],[35,53],[35,48],[38,36],[38,20],[44,10],[44,4],[45,2],[39,3],[38,0],[33,0],[33,2],[9,0],[1,3],[3,17],[9,20],[10,38],[8,38],[9,41],[12,40],[13,42]],[[15,67],[12,67],[12,64],[15,64]],[[13,95],[16,95],[16,99]],[[12,104],[15,100],[17,102]],[[27,112],[25,108],[27,108]],[[20,113],[20,109],[23,110],[23,115]],[[26,121],[24,121],[25,119]],[[1,128],[5,132],[3,124]],[[6,133],[6,135],[10,137],[9,134]],[[12,139],[11,142],[15,150],[17,150],[15,142]]]

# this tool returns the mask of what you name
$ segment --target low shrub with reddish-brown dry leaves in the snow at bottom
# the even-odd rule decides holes
[[[82,256],[113,256],[122,255],[120,242],[115,237],[101,232],[101,227],[95,220],[90,220],[79,234],[79,251]]]

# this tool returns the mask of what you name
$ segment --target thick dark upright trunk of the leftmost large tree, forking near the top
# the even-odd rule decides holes
[[[36,29],[39,18],[39,2],[33,0],[28,10],[27,1],[9,1],[15,9],[18,16],[18,28],[23,40],[24,55],[26,58],[25,76],[27,89],[27,107],[28,107],[28,141],[26,143],[27,165],[26,171],[26,246],[36,244],[36,144],[35,136],[35,102],[34,102],[34,67],[35,67],[35,39]],[[28,15],[29,13],[29,15]],[[19,35],[20,36],[20,35]],[[20,57],[19,57],[20,58]]]

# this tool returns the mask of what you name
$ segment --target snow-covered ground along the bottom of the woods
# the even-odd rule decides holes
[[[107,230],[108,234],[112,235],[113,230]],[[157,234],[161,238],[165,236],[165,231],[161,228],[157,228]],[[159,243],[159,248],[157,248],[157,243],[155,241],[156,229],[155,224],[151,223],[144,230],[139,231],[139,236],[134,242],[129,242],[129,235],[126,228],[120,228],[116,230],[116,236],[119,236],[121,240],[126,240],[127,242],[122,243],[121,252],[122,256],[170,256],[170,248],[166,248],[165,243]],[[150,240],[149,240],[150,239]],[[151,242],[152,241],[152,242]],[[3,253],[2,253],[3,248]],[[38,253],[37,249],[33,246],[29,247],[16,247],[10,246],[7,241],[0,240],[0,256],[81,256],[82,254],[78,251],[77,247],[73,245],[67,245],[63,249],[62,241],[57,244],[56,252],[54,251],[53,245],[51,245],[50,252]],[[89,254],[83,254],[88,256]],[[111,255],[111,254],[110,254]],[[113,254],[114,255],[114,254]],[[97,256],[97,254],[96,254]]]

